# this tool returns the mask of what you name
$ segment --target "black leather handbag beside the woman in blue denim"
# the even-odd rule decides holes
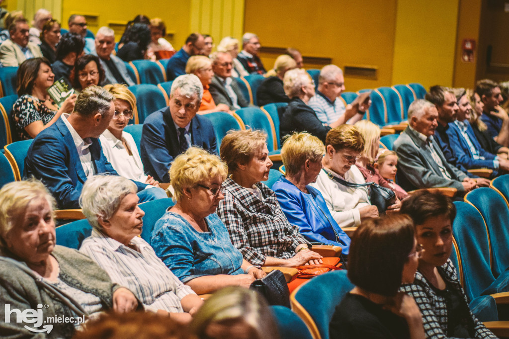
[[[269,305],[290,308],[290,290],[285,275],[281,271],[273,270],[262,279],[254,280],[249,289],[263,295]]]

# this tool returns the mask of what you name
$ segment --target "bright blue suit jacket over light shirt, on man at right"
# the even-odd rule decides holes
[[[486,160],[473,158],[472,152],[470,152],[470,147],[468,147],[467,140],[463,137],[460,128],[454,122],[451,122],[447,129],[447,135],[449,136],[450,148],[453,150],[456,158],[458,158],[458,163],[461,163],[469,170],[470,168],[482,167],[494,168],[493,159],[495,159],[496,155],[486,152],[477,141],[470,124],[467,122],[466,125],[467,135],[470,137],[470,141],[479,152],[479,155],[484,157]]]

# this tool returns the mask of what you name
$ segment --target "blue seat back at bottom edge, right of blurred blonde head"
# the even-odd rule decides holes
[[[312,339],[306,324],[290,308],[270,306],[281,339]]]

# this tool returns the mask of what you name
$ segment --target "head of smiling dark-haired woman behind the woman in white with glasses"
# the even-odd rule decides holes
[[[101,66],[98,56],[85,54],[80,56],[74,64],[72,72],[72,86],[76,93],[79,93],[89,86],[98,86],[104,81],[104,69]]]

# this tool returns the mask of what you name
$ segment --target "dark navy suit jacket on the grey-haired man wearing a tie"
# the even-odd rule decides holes
[[[205,116],[196,115],[191,120],[191,145],[210,153],[216,152],[216,135],[212,122]],[[153,112],[143,123],[140,157],[145,174],[159,182],[169,182],[169,167],[180,154],[179,137],[169,107]]]

